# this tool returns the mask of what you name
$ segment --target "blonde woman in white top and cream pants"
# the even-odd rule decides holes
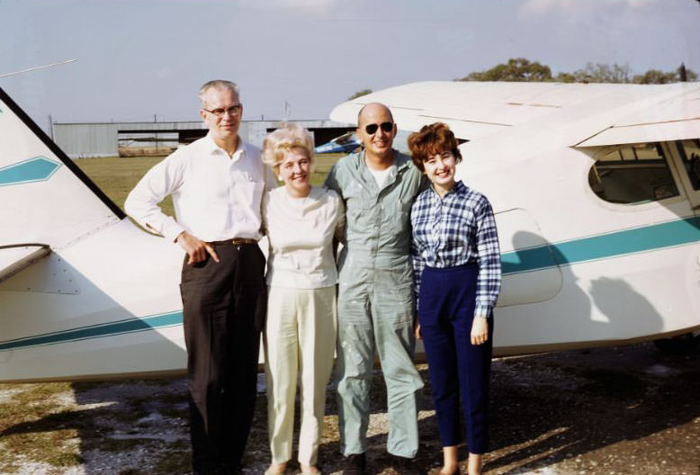
[[[270,240],[266,282],[265,377],[272,463],[281,474],[292,458],[292,426],[300,382],[301,472],[320,473],[319,437],[336,347],[337,269],[333,240],[345,211],[337,193],[311,186],[313,139],[293,124],[268,134],[263,161],[284,182],[267,193],[263,224]]]

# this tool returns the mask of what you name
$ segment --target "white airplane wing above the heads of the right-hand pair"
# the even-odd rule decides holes
[[[700,83],[673,85],[422,82],[390,87],[338,105],[334,121],[356,123],[366,103],[387,104],[400,130],[443,121],[460,139],[480,139],[521,124],[551,119],[579,121],[570,109],[591,104],[591,115],[570,146],[637,143],[696,137],[700,127]],[[596,105],[598,104],[598,105]],[[635,104],[629,113],[630,104]],[[587,105],[584,105],[588,107]],[[618,116],[615,110],[625,111]],[[588,140],[590,140],[588,142]]]

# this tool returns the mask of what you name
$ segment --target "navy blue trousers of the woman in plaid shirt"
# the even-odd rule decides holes
[[[418,318],[426,347],[433,402],[444,447],[458,445],[460,393],[470,453],[489,446],[489,376],[493,348],[493,318],[489,339],[471,345],[479,267],[466,264],[445,269],[427,267],[418,296]]]

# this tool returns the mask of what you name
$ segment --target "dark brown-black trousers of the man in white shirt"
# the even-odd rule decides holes
[[[183,264],[180,291],[187,346],[193,468],[238,467],[256,402],[260,331],[265,322],[265,256],[254,244],[215,246]]]

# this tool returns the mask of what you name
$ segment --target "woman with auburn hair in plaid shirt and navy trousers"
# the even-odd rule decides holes
[[[419,325],[443,444],[442,475],[459,473],[459,399],[467,426],[468,473],[481,473],[488,449],[493,307],[500,252],[491,205],[454,177],[459,143],[444,123],[408,138],[413,162],[430,179],[411,208],[411,254]]]

